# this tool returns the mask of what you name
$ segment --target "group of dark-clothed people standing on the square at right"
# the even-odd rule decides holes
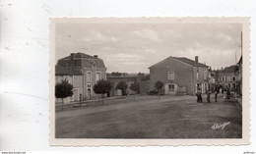
[[[207,102],[208,103],[211,102],[211,93],[212,93],[211,90],[208,90],[207,93],[206,93],[207,94]],[[219,93],[219,90],[215,90],[215,102],[217,102],[218,93]],[[223,95],[222,89],[220,89],[220,94]],[[202,91],[201,91],[200,88],[197,90],[196,96],[197,96],[197,102],[198,103],[202,103],[203,102],[203,98],[202,98]],[[229,102],[230,98],[231,98],[231,93],[230,93],[229,89],[227,89],[226,93],[224,94],[224,101]]]

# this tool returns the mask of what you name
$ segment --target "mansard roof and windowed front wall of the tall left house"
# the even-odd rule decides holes
[[[94,99],[100,97],[94,92],[94,85],[99,79],[106,79],[106,67],[96,55],[90,56],[84,53],[71,53],[70,56],[58,60],[58,66],[75,70],[82,74],[83,99]]]

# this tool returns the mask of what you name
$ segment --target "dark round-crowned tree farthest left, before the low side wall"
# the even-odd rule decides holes
[[[62,99],[62,110],[64,104],[64,98],[73,95],[73,85],[68,82],[67,79],[61,80],[60,83],[55,85],[55,97]]]

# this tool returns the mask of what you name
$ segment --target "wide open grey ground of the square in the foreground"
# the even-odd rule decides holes
[[[57,138],[239,138],[234,102],[195,96],[137,96],[56,112]]]

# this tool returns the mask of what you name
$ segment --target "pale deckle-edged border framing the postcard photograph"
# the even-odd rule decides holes
[[[242,138],[235,139],[74,139],[55,138],[55,25],[58,23],[207,23],[242,24],[243,98]],[[165,146],[165,145],[248,145],[250,143],[250,18],[52,18],[50,19],[49,142],[55,146]]]

